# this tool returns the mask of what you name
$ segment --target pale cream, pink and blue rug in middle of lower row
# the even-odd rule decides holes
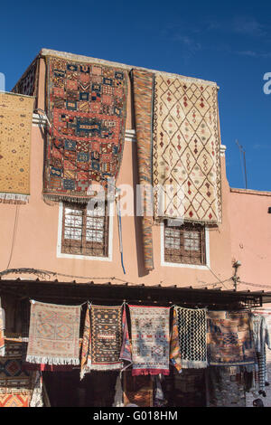
[[[133,375],[168,375],[169,307],[129,306]]]

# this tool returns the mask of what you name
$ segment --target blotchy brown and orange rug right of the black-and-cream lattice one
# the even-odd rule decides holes
[[[213,366],[256,364],[248,311],[208,311],[207,349]]]

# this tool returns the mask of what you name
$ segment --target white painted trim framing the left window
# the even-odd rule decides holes
[[[63,252],[61,252],[63,203],[60,203],[60,206],[59,206],[57,258],[59,258],[59,259],[70,259],[70,260],[74,259],[74,260],[112,261],[112,258],[113,258],[113,255],[112,255],[113,215],[114,215],[114,202],[108,202],[109,231],[108,231],[108,255],[107,255],[107,257],[94,257],[94,256],[91,256],[91,255],[64,254]]]

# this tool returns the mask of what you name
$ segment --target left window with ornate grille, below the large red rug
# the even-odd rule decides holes
[[[63,203],[61,253],[107,257],[108,225],[107,205],[89,210],[86,204]]]

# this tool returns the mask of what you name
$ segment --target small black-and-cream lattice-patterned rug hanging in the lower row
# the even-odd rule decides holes
[[[182,368],[207,367],[207,319],[205,308],[174,307],[177,315]]]

